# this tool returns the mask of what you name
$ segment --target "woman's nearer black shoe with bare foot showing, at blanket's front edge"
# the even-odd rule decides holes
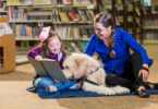
[[[145,89],[144,86],[139,86],[139,87],[136,89],[136,93],[137,93],[137,95],[138,95],[141,98],[149,98],[149,94],[146,92],[146,89]]]

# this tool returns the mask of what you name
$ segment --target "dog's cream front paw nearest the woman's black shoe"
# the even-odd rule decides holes
[[[112,87],[113,90],[116,92],[116,94],[125,94],[125,93],[130,93],[130,89],[126,87],[122,87],[122,86],[114,86]]]

